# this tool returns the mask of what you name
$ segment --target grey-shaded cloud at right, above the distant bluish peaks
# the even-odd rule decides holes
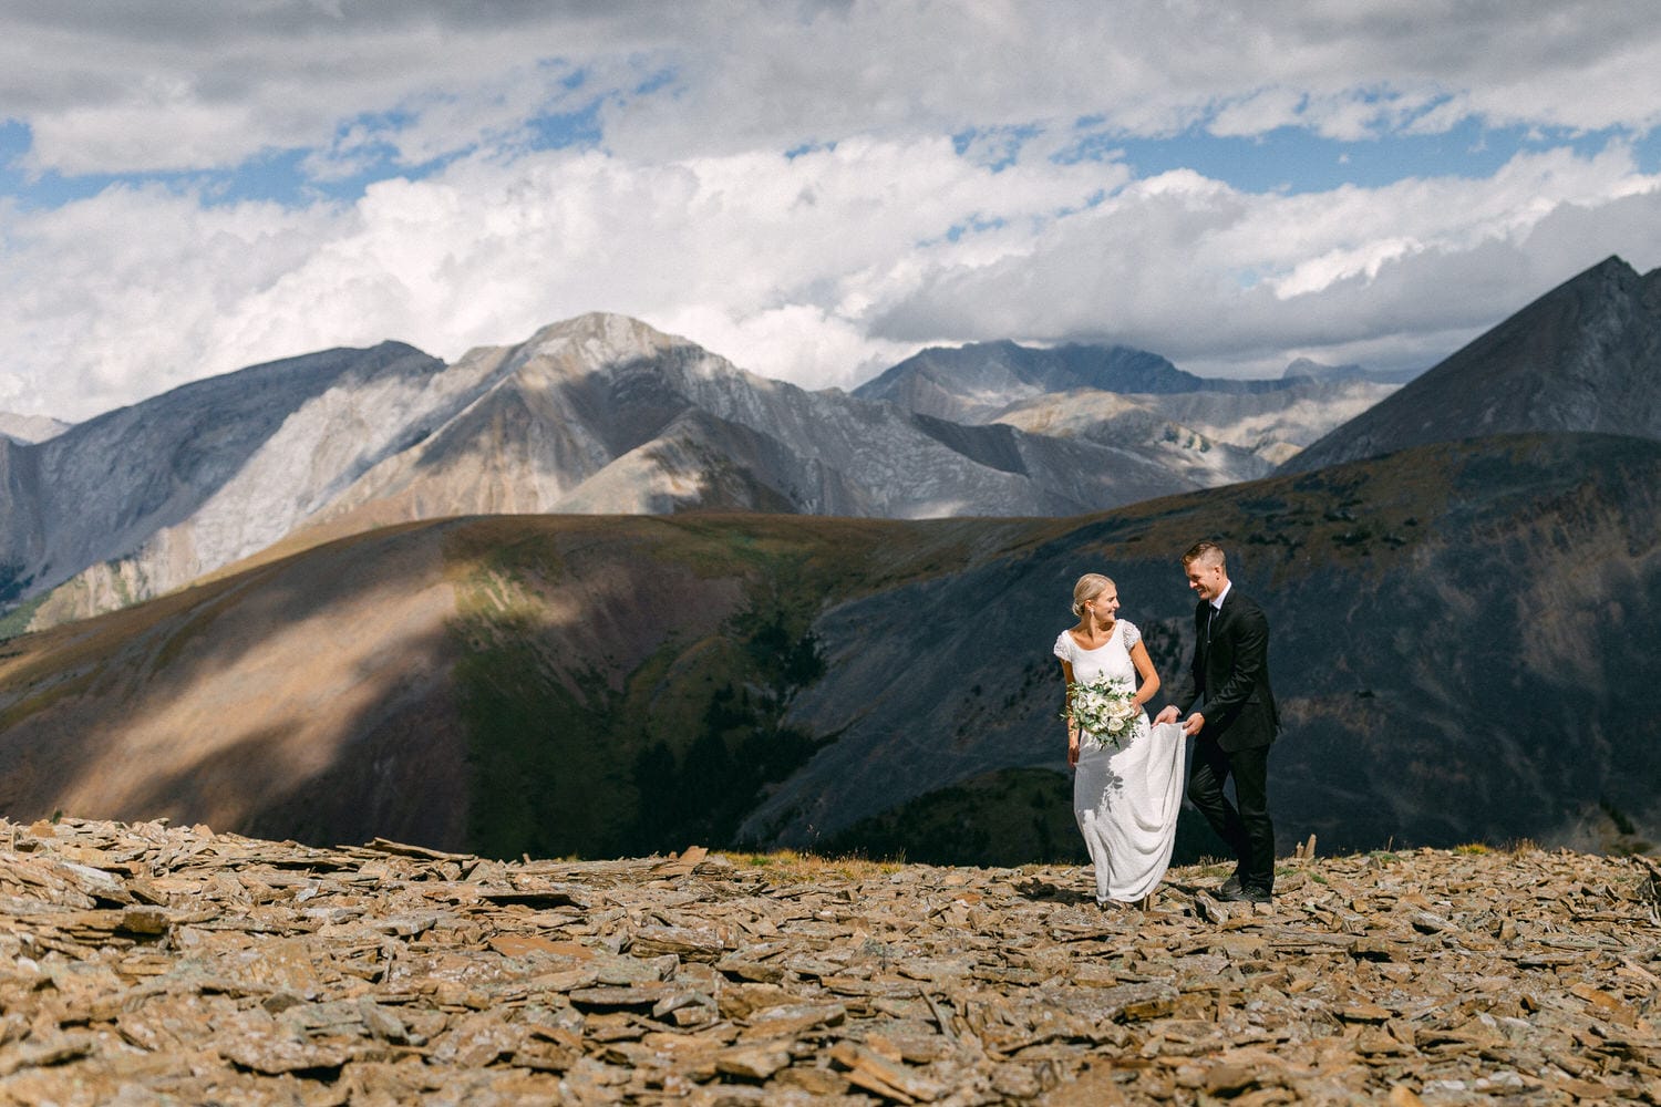
[[[1639,174],[1619,144],[1595,158],[1518,156],[1487,181],[1299,196],[1168,174],[1051,226],[1020,256],[978,267],[942,259],[887,305],[875,334],[1093,335],[1194,372],[1277,372],[1294,347],[1394,340],[1397,352],[1380,342],[1374,357],[1414,363],[1415,335],[1468,337],[1610,254],[1661,262],[1661,221],[1644,226],[1634,211],[1661,214],[1661,178]],[[1556,234],[1563,219],[1583,237]]]

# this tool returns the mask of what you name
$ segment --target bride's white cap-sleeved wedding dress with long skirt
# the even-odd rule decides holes
[[[1055,656],[1073,666],[1073,680],[1100,675],[1136,685],[1131,646],[1141,632],[1120,619],[1106,644],[1085,649],[1070,631],[1055,641]],[[1176,815],[1183,805],[1183,727],[1148,724],[1138,715],[1129,734],[1095,742],[1080,735],[1073,775],[1073,815],[1096,866],[1096,903],[1134,903],[1159,886],[1176,845]]]

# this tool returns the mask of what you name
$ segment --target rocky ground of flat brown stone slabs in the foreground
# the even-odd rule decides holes
[[[0,820],[18,1104],[1661,1102],[1661,868],[502,863]]]

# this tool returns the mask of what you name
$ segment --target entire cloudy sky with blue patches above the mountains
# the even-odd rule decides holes
[[[806,387],[990,339],[1414,368],[1661,264],[1641,5],[0,13],[10,412],[586,310]]]

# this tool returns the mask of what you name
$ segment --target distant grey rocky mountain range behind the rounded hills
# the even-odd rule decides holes
[[[1048,357],[1008,344],[965,357],[980,355]],[[1382,395],[1224,387],[1151,354],[1111,358],[1149,368],[1088,380],[1156,383],[1164,410],[1086,387],[1065,413],[1028,400],[953,422],[757,377],[601,314],[450,365],[397,342],[256,365],[38,443],[0,438],[0,604],[13,631],[42,629],[277,543],[452,514],[1078,514],[1261,476],[1281,456],[1264,443],[1312,440]],[[912,377],[902,365],[880,380]]]

